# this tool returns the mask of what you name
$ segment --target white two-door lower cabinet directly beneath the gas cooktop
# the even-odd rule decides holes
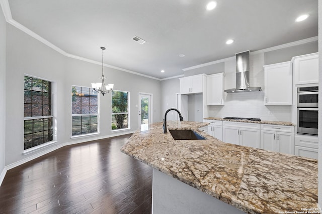
[[[223,121],[222,135],[222,141],[225,143],[260,148],[259,123]]]

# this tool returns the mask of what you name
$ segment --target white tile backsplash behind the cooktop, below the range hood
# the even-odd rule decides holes
[[[292,121],[292,106],[264,105],[264,92],[225,93],[224,106],[209,106],[209,117],[251,117]]]

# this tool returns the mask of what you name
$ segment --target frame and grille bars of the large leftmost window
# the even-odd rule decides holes
[[[25,77],[29,77],[29,78],[32,78],[32,79],[38,79],[38,80],[41,80],[41,81],[46,81],[46,82],[50,82],[50,91],[48,90],[48,95],[50,95],[50,100],[48,100],[48,105],[50,105],[50,115],[43,115],[43,116],[27,116],[25,117],[25,104],[31,104],[33,105],[33,101],[31,101],[31,103],[25,103]],[[43,83],[42,83],[43,84]],[[26,155],[30,152],[33,152],[35,150],[38,150],[40,148],[43,148],[43,147],[46,147],[52,143],[55,143],[56,142],[56,126],[55,126],[55,106],[56,106],[56,100],[54,99],[54,90],[55,90],[55,82],[54,81],[51,81],[51,80],[48,80],[48,79],[45,79],[45,78],[40,78],[40,77],[36,77],[36,76],[33,76],[33,75],[29,75],[29,74],[24,74],[24,137],[23,137],[23,142],[24,142],[24,150],[23,150],[23,154]],[[31,100],[33,99],[33,91],[35,92],[39,92],[39,91],[36,91],[36,90],[32,90],[32,86],[31,86]],[[44,89],[42,89],[42,92],[41,93],[44,93]],[[42,94],[43,96],[43,94]],[[39,104],[39,103],[37,103]],[[44,101],[42,100],[41,102],[41,105],[44,105]],[[43,109],[42,109],[43,111]],[[32,121],[32,123],[34,122],[34,120],[39,120],[39,119],[48,119],[48,118],[51,118],[51,140],[47,141],[47,142],[43,142],[41,144],[38,144],[38,145],[35,145],[35,146],[32,146],[30,148],[25,148],[25,121]],[[43,123],[45,123],[45,121],[43,121]],[[45,130],[44,129],[45,126],[43,126],[43,129],[42,129],[42,132],[45,132],[45,131],[50,131],[50,129],[48,130]],[[39,131],[38,131],[39,132]],[[29,134],[32,134],[34,135],[35,132],[34,131],[34,125],[32,126],[32,132],[29,133]],[[34,138],[34,136],[33,136]],[[45,139],[45,135],[43,135],[43,138]],[[32,144],[34,144],[34,139],[33,139],[33,142]]]

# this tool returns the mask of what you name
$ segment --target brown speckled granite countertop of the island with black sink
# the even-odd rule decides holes
[[[317,160],[223,143],[198,130],[208,123],[167,123],[207,139],[174,140],[160,122],[137,130],[121,151],[247,213],[317,207]]]

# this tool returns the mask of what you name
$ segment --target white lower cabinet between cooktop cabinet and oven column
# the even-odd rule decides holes
[[[294,154],[294,126],[261,124],[261,149]]]

